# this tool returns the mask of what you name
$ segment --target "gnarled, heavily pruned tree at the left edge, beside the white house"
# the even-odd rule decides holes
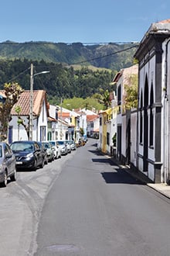
[[[0,137],[1,141],[7,140],[8,137],[8,123],[10,122],[11,118],[11,110],[12,106],[16,102],[18,102],[23,89],[18,83],[5,83],[4,85],[4,92],[5,92],[5,102],[0,103]]]

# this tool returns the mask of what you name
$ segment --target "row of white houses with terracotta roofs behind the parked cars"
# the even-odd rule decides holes
[[[0,92],[1,101],[5,94]],[[95,137],[99,133],[99,116],[88,109],[64,109],[62,106],[50,105],[46,91],[33,91],[32,97],[32,140],[75,140],[83,137]],[[20,111],[16,109],[19,107]],[[11,111],[8,123],[8,143],[15,140],[29,140],[30,91],[24,91]],[[22,125],[19,123],[22,119]],[[29,130],[29,133],[27,133]]]

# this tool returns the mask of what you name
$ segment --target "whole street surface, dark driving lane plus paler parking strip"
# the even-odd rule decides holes
[[[168,255],[170,201],[90,139],[0,188],[1,256]]]

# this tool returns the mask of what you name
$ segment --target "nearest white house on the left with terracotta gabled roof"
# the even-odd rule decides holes
[[[15,111],[20,108],[19,115]],[[47,121],[49,116],[49,106],[46,100],[46,91],[33,91],[32,101],[32,140],[47,140]],[[19,101],[12,107],[12,120],[8,124],[8,142],[14,140],[29,140],[29,116],[30,116],[30,91],[22,92]],[[26,128],[18,124],[19,116],[23,120]]]

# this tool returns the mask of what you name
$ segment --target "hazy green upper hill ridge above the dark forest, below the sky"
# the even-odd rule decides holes
[[[0,59],[27,59],[68,65],[92,65],[114,71],[130,67],[137,44],[107,43],[84,45],[83,43],[26,42],[0,43]]]

